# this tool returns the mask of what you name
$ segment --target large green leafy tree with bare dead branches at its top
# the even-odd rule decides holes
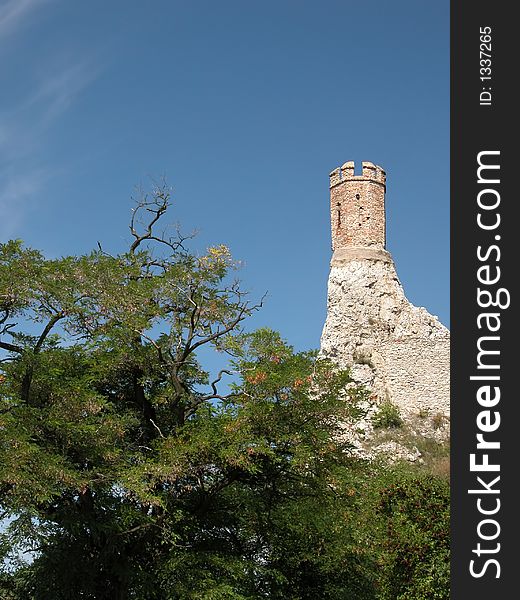
[[[169,204],[142,198],[115,256],[0,246],[3,597],[374,598],[348,374],[245,334],[261,302],[226,247],[157,233]]]

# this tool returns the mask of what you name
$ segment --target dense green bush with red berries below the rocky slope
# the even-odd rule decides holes
[[[370,547],[378,565],[378,600],[448,600],[449,482],[411,466],[380,465],[362,495],[358,544]]]

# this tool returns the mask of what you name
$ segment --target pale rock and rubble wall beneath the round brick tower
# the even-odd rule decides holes
[[[405,420],[449,418],[448,329],[407,300],[387,252],[358,254],[349,249],[332,259],[321,354],[351,367],[376,403],[389,400]]]

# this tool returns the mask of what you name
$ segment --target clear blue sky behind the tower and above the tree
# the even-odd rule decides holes
[[[268,291],[254,325],[317,347],[328,173],[370,160],[405,292],[449,324],[447,0],[0,0],[0,81],[2,239],[117,252],[165,177]]]

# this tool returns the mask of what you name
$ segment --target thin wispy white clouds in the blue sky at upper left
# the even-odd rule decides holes
[[[9,38],[23,42],[25,29],[36,24],[42,8],[57,0],[0,0],[0,43]],[[89,51],[90,52],[90,51]],[[53,56],[54,54],[54,56]],[[61,57],[68,56],[66,62]],[[16,97],[19,86],[2,86],[0,103],[0,236],[20,235],[27,213],[61,167],[49,163],[46,148],[52,130],[83,90],[96,79],[99,70],[93,60],[66,53],[38,56],[34,64],[19,71],[21,83],[29,90]],[[1,57],[0,57],[1,66]]]

